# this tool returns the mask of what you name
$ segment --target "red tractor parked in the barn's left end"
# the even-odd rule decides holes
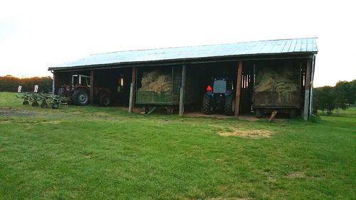
[[[74,105],[87,105],[90,102],[90,76],[73,74],[70,83],[63,83],[58,95],[70,98]],[[94,97],[102,106],[110,105],[110,91],[108,88],[94,88]]]

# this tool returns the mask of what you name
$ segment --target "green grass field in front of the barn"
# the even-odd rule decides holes
[[[355,107],[268,123],[14,95],[0,93],[0,199],[356,199]]]

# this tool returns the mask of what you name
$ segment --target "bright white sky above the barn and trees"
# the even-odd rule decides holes
[[[93,53],[318,37],[314,86],[356,78],[352,1],[0,1],[0,75]]]

